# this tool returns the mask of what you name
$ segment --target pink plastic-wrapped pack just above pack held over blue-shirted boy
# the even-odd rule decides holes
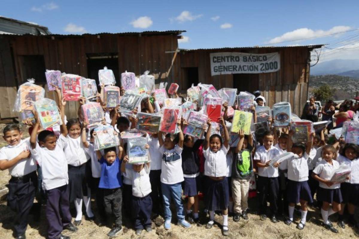
[[[100,103],[97,102],[86,103],[81,106],[81,110],[84,116],[84,121],[88,123],[87,125],[88,129],[101,125],[101,122],[105,116]]]

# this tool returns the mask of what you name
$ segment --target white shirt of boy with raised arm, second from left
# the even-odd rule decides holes
[[[67,139],[62,137],[56,141],[54,150],[42,148],[38,143],[36,143],[36,148],[31,149],[34,159],[41,167],[43,190],[50,190],[69,183],[67,160],[64,153],[66,144]]]

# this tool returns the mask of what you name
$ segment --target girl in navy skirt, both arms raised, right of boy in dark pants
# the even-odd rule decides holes
[[[302,217],[297,225],[297,229],[302,230],[306,225],[307,218],[307,203],[312,203],[311,190],[308,185],[308,158],[313,145],[313,134],[311,134],[307,145],[303,143],[292,142],[293,131],[289,132],[290,137],[287,141],[287,151],[296,154],[292,158],[284,160],[280,163],[274,164],[274,167],[278,167],[282,170],[288,169],[288,185],[287,185],[287,200],[288,200],[288,214],[289,218],[285,221],[286,225],[290,225],[293,222],[294,206],[300,202]]]

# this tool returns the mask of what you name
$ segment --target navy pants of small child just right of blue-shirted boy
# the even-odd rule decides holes
[[[132,219],[136,230],[151,227],[151,212],[152,199],[150,195],[132,196]]]

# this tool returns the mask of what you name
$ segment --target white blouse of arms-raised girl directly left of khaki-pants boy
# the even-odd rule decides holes
[[[203,155],[205,157],[204,162],[204,175],[211,177],[226,177],[227,176],[227,153],[228,148],[222,147],[216,152],[212,152],[210,147],[203,150]]]

